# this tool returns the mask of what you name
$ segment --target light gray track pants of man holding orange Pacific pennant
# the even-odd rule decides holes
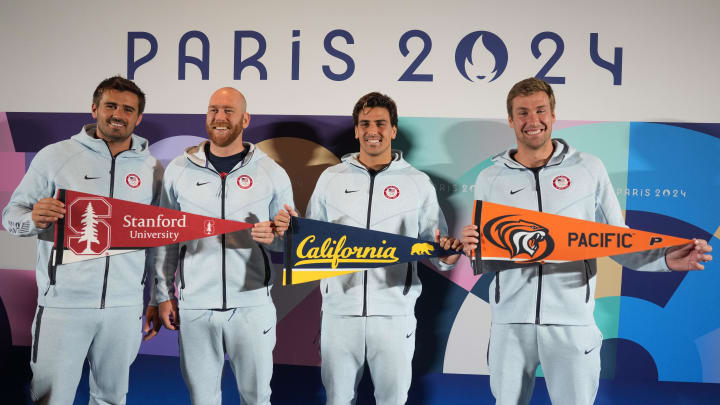
[[[488,365],[497,405],[527,405],[542,364],[553,405],[591,405],[602,334],[593,325],[492,324]]]

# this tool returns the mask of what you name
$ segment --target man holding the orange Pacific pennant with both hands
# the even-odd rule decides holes
[[[530,78],[507,97],[517,149],[492,158],[475,182],[475,199],[625,226],[620,204],[600,159],[552,139],[555,95]],[[463,228],[469,255],[478,244],[475,225]],[[643,271],[702,270],[712,248],[703,240],[680,248],[615,256]],[[497,263],[483,266],[494,270]],[[507,267],[507,265],[503,266]],[[490,388],[499,405],[528,404],[542,364],[555,405],[590,405],[600,378],[595,308],[595,260],[546,263],[498,271],[490,284],[492,310],[488,349]]]

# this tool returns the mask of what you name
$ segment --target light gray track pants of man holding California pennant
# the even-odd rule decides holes
[[[321,375],[327,405],[354,404],[367,360],[377,405],[407,401],[415,352],[414,315],[342,316],[324,313]]]

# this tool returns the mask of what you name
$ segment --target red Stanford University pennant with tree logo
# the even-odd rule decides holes
[[[252,228],[116,198],[58,190],[65,218],[55,226],[55,265],[95,259]]]

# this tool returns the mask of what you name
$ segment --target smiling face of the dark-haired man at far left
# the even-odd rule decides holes
[[[109,144],[129,143],[130,135],[142,120],[138,104],[138,96],[129,91],[103,91],[98,103],[93,103],[91,108],[97,120],[96,135]]]

